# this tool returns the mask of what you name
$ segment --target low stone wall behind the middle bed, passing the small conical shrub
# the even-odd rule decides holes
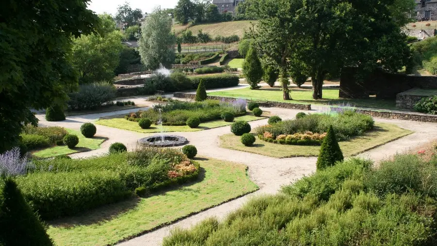
[[[175,92],[173,96],[179,98],[188,98],[188,99],[194,99],[196,97],[195,94],[184,93],[184,92]],[[226,102],[233,102],[237,100],[236,98],[232,98],[232,97],[218,97],[218,96],[208,96],[207,98],[212,100],[224,100]],[[293,103],[253,101],[253,100],[247,100],[247,101],[257,102],[260,106],[263,107],[281,107],[281,108],[290,108],[290,109],[311,110],[310,104],[293,104]]]

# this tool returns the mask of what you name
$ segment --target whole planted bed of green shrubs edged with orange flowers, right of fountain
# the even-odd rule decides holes
[[[262,125],[255,128],[261,140],[295,145],[319,145],[332,125],[339,141],[362,135],[373,128],[373,119],[354,111],[311,114],[303,118]]]

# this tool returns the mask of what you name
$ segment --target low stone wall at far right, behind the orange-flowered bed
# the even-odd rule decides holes
[[[356,111],[358,113],[367,114],[378,118],[437,123],[437,115],[432,114],[374,111],[368,109],[357,109]]]

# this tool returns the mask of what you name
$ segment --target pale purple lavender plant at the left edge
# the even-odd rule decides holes
[[[0,155],[0,175],[25,175],[26,171],[27,158],[20,158],[20,149],[18,147]]]

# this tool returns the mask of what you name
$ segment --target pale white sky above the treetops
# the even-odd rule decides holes
[[[97,14],[104,12],[115,15],[118,5],[127,1],[132,9],[139,8],[143,12],[151,13],[154,7],[161,5],[161,8],[174,8],[178,0],[91,0],[88,8]]]

